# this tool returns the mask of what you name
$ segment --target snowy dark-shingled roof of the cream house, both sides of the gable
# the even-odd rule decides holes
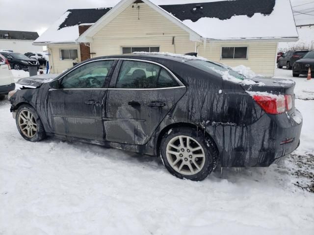
[[[285,41],[298,37],[289,0],[150,1],[207,39]],[[96,23],[110,9],[68,10],[34,43],[75,43],[79,36],[78,25]]]

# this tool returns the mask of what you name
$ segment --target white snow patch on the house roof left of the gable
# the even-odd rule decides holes
[[[34,41],[34,44],[44,43],[75,43],[78,39],[78,25],[69,26],[59,29],[71,12],[65,12],[56,22],[52,24],[39,38]]]

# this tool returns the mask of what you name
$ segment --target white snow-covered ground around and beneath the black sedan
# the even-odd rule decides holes
[[[304,90],[313,92],[314,80],[287,70],[276,76],[295,80],[297,97],[312,97]],[[0,101],[0,234],[313,234],[314,100],[295,103],[304,117],[301,145],[284,163],[222,176],[217,169],[192,182],[170,175],[157,158],[27,142]]]

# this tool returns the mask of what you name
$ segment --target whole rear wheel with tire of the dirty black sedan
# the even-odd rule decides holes
[[[217,165],[218,154],[213,142],[202,130],[182,127],[168,133],[162,137],[159,148],[167,170],[180,179],[204,180]],[[192,151],[193,148],[198,150]]]

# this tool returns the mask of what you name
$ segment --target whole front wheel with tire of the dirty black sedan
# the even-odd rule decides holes
[[[36,110],[30,105],[25,104],[18,108],[15,121],[21,136],[26,141],[37,142],[46,138],[43,123]]]

